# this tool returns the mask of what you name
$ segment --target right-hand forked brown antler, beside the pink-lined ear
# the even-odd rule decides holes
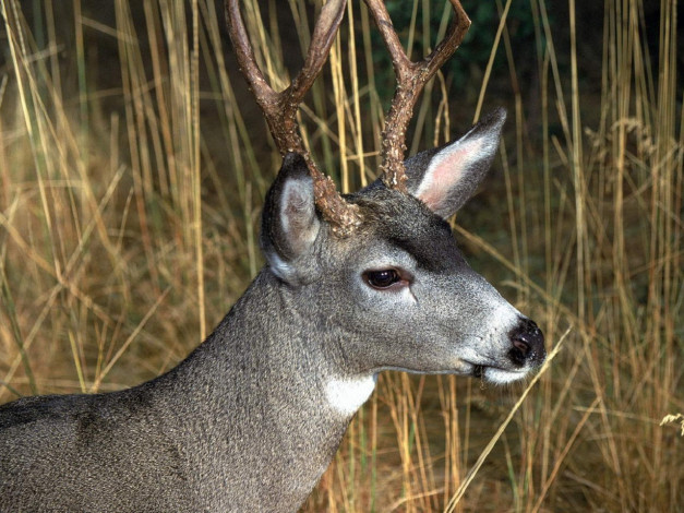
[[[459,0],[449,0],[454,8],[454,19],[444,39],[424,59],[413,62],[404,51],[385,4],[381,0],[364,1],[392,56],[397,80],[397,88],[382,135],[382,179],[388,188],[406,192],[404,152],[406,151],[406,129],[413,114],[413,107],[425,83],[463,41],[470,27],[470,20]]]

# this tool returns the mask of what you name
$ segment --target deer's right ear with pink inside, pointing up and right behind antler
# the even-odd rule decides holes
[[[487,175],[505,120],[506,110],[499,108],[458,141],[407,159],[409,192],[435,214],[444,218],[453,215]]]

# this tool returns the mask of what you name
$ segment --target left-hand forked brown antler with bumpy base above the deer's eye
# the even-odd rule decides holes
[[[239,1],[226,0],[228,34],[238,63],[256,103],[264,112],[276,146],[281,155],[288,152],[303,155],[313,178],[316,206],[326,220],[333,225],[333,229],[341,236],[348,235],[361,223],[358,207],[341,198],[333,180],[319,170],[311,155],[303,147],[301,136],[297,131],[297,110],[327,59],[345,14],[346,4],[347,0],[328,0],[321,8],[302,69],[287,88],[276,93],[256,64],[240,13]]]

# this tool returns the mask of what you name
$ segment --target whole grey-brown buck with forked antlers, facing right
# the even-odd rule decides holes
[[[404,162],[416,99],[470,24],[449,1],[445,39],[412,62],[384,4],[365,0],[398,85],[381,178],[343,196],[304,151],[296,112],[346,0],[321,8],[303,68],[280,93],[255,63],[238,1],[227,0],[240,67],[284,156],[263,208],[266,265],[168,373],[0,407],[1,511],[296,511],[379,372],[508,383],[543,361],[537,325],[468,266],[444,220],[484,177],[505,111]]]

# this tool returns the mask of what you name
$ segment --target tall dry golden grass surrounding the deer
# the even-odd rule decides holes
[[[107,24],[73,0],[68,37],[55,12],[64,4],[37,3],[28,25],[23,2],[1,2],[0,402],[120,389],[182,359],[256,273],[259,206],[278,168],[263,127],[245,120],[253,107],[224,62],[213,2],[151,0],[131,13],[117,0]],[[260,3],[267,31],[248,3],[276,81],[277,2]],[[663,0],[660,25],[647,27],[659,32],[653,49],[643,0],[605,2],[591,94],[577,21],[557,41],[548,2],[529,9],[539,93],[517,82],[530,56],[513,55],[504,19],[492,49],[513,91],[501,180],[456,229],[551,348],[569,327],[563,347],[521,404],[521,387],[383,375],[305,511],[683,511],[684,439],[660,425],[684,411],[675,4]],[[296,26],[311,15],[299,0],[278,13]],[[348,14],[301,112],[308,144],[345,189],[373,178],[386,103],[368,15],[356,1]],[[298,37],[305,48],[308,32]],[[94,41],[116,57],[99,58]],[[477,106],[460,111],[487,109],[493,62]],[[451,83],[440,76],[419,104],[413,151],[455,135]]]

